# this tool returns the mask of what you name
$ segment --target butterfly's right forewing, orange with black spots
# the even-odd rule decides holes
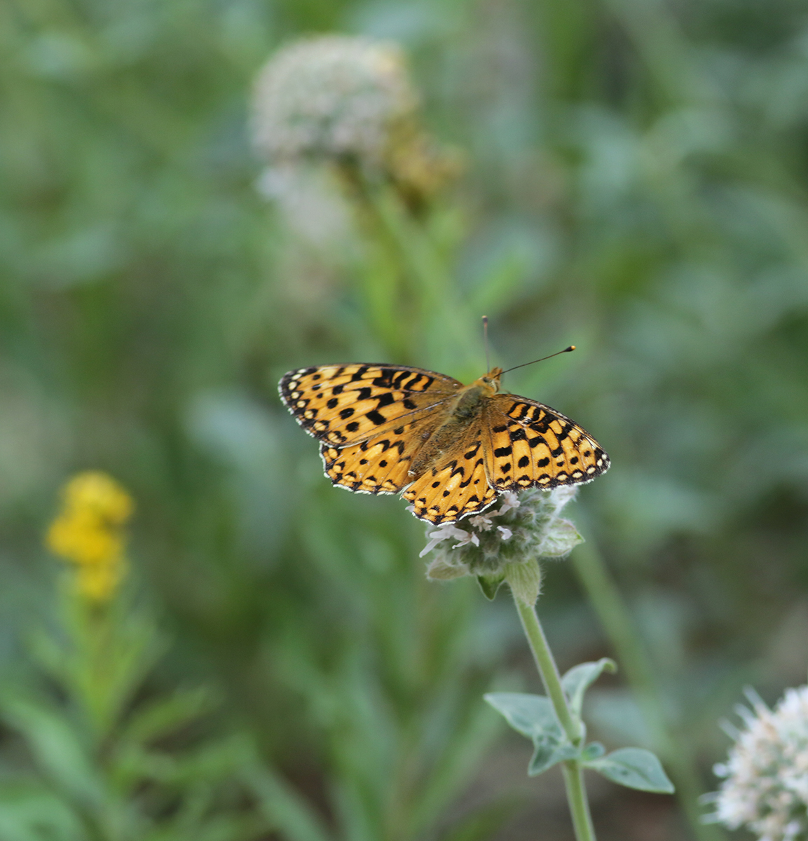
[[[609,467],[609,457],[587,431],[535,400],[496,394],[485,414],[489,479],[500,491],[584,484]]]

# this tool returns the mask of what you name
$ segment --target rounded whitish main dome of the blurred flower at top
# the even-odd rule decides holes
[[[252,130],[273,165],[354,161],[381,167],[418,97],[404,55],[387,41],[345,35],[298,40],[256,77]]]

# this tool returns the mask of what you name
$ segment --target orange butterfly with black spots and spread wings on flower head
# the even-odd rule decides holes
[[[609,468],[574,421],[501,393],[502,373],[463,385],[422,368],[356,362],[290,371],[278,390],[320,441],[333,484],[403,491],[416,517],[438,524],[477,514],[506,490],[584,484]]]

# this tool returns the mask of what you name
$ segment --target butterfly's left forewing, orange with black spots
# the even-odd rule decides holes
[[[286,374],[283,402],[309,434],[337,447],[391,433],[434,411],[462,383],[398,365],[321,365]]]

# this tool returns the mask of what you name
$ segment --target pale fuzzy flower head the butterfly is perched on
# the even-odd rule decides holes
[[[581,537],[560,512],[575,495],[575,488],[531,489],[519,495],[499,495],[484,514],[457,523],[427,528],[420,553],[432,554],[430,579],[477,575],[496,582],[513,563],[535,563],[537,558],[561,558]]]

